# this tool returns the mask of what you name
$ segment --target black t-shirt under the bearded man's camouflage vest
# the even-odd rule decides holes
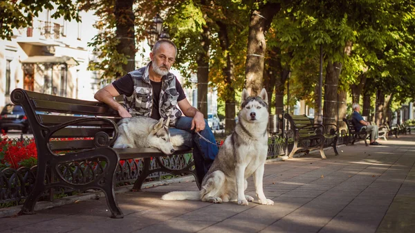
[[[160,91],[161,91],[161,83],[162,82],[154,82],[151,81],[151,86],[153,86],[153,110],[151,111],[151,118],[159,120],[160,113],[158,112],[158,102],[160,101]],[[118,80],[114,81],[113,83],[114,88],[120,93],[120,95],[131,96],[134,91],[134,82],[133,77],[127,74],[120,77]],[[178,92],[178,99],[177,102],[184,100],[186,98],[185,91],[183,91],[183,87],[181,86],[180,82],[178,82],[176,78],[176,90]]]

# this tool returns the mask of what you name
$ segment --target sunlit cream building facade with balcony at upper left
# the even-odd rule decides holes
[[[0,106],[10,103],[15,88],[92,100],[98,75],[87,71],[96,35],[92,12],[80,12],[82,22],[52,19],[44,10],[29,28],[15,29],[11,40],[0,40]]]

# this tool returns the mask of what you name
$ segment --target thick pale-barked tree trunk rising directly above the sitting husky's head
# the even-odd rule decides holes
[[[245,70],[245,86],[250,95],[258,95],[262,89],[266,52],[265,33],[280,8],[279,3],[268,2],[251,12]]]

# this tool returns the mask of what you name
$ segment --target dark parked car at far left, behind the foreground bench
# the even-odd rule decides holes
[[[21,133],[30,132],[28,118],[20,105],[6,104],[0,113],[0,129],[6,133],[10,129],[21,130]]]

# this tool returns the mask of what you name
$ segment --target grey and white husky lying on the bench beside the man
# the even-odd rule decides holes
[[[138,148],[155,147],[163,153],[174,153],[174,146],[183,145],[183,137],[180,135],[170,137],[170,118],[154,120],[143,116],[122,118],[118,122],[118,138],[113,148]]]

